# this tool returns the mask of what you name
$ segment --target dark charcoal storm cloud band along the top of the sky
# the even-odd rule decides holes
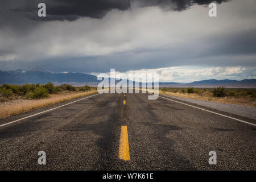
[[[7,11],[19,16],[26,16],[31,20],[68,20],[74,21],[80,17],[89,18],[103,18],[109,11],[113,9],[128,10],[132,5],[139,7],[159,6],[164,10],[182,11],[188,9],[190,6],[208,5],[210,2],[222,3],[229,0],[22,0],[17,6],[13,6],[13,1],[1,1],[0,6],[5,3],[8,6],[3,6]],[[16,2],[16,1],[15,1]],[[39,18],[37,16],[38,4],[40,2],[46,3],[47,17]]]

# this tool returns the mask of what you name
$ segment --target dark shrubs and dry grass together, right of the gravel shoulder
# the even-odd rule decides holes
[[[256,89],[217,88],[160,88],[159,94],[205,101],[256,107]]]

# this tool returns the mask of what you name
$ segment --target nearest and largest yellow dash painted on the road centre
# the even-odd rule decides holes
[[[118,157],[122,160],[130,160],[127,126],[121,126]]]

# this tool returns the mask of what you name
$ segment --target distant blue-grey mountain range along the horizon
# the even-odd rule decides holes
[[[75,86],[90,85],[97,86],[100,81],[97,76],[85,73],[53,73],[35,68],[30,71],[16,69],[14,71],[0,70],[0,84],[46,84],[52,82],[55,85],[72,84]],[[256,88],[256,79],[237,80],[201,80],[191,83],[179,82],[159,82],[159,87],[178,87],[185,88],[193,86],[196,88],[213,88],[216,86],[226,86],[226,88]]]

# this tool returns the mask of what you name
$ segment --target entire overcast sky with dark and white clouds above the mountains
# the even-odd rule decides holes
[[[47,17],[38,16],[46,3]],[[209,17],[216,2],[217,17]],[[256,1],[1,0],[0,69],[256,78]]]

